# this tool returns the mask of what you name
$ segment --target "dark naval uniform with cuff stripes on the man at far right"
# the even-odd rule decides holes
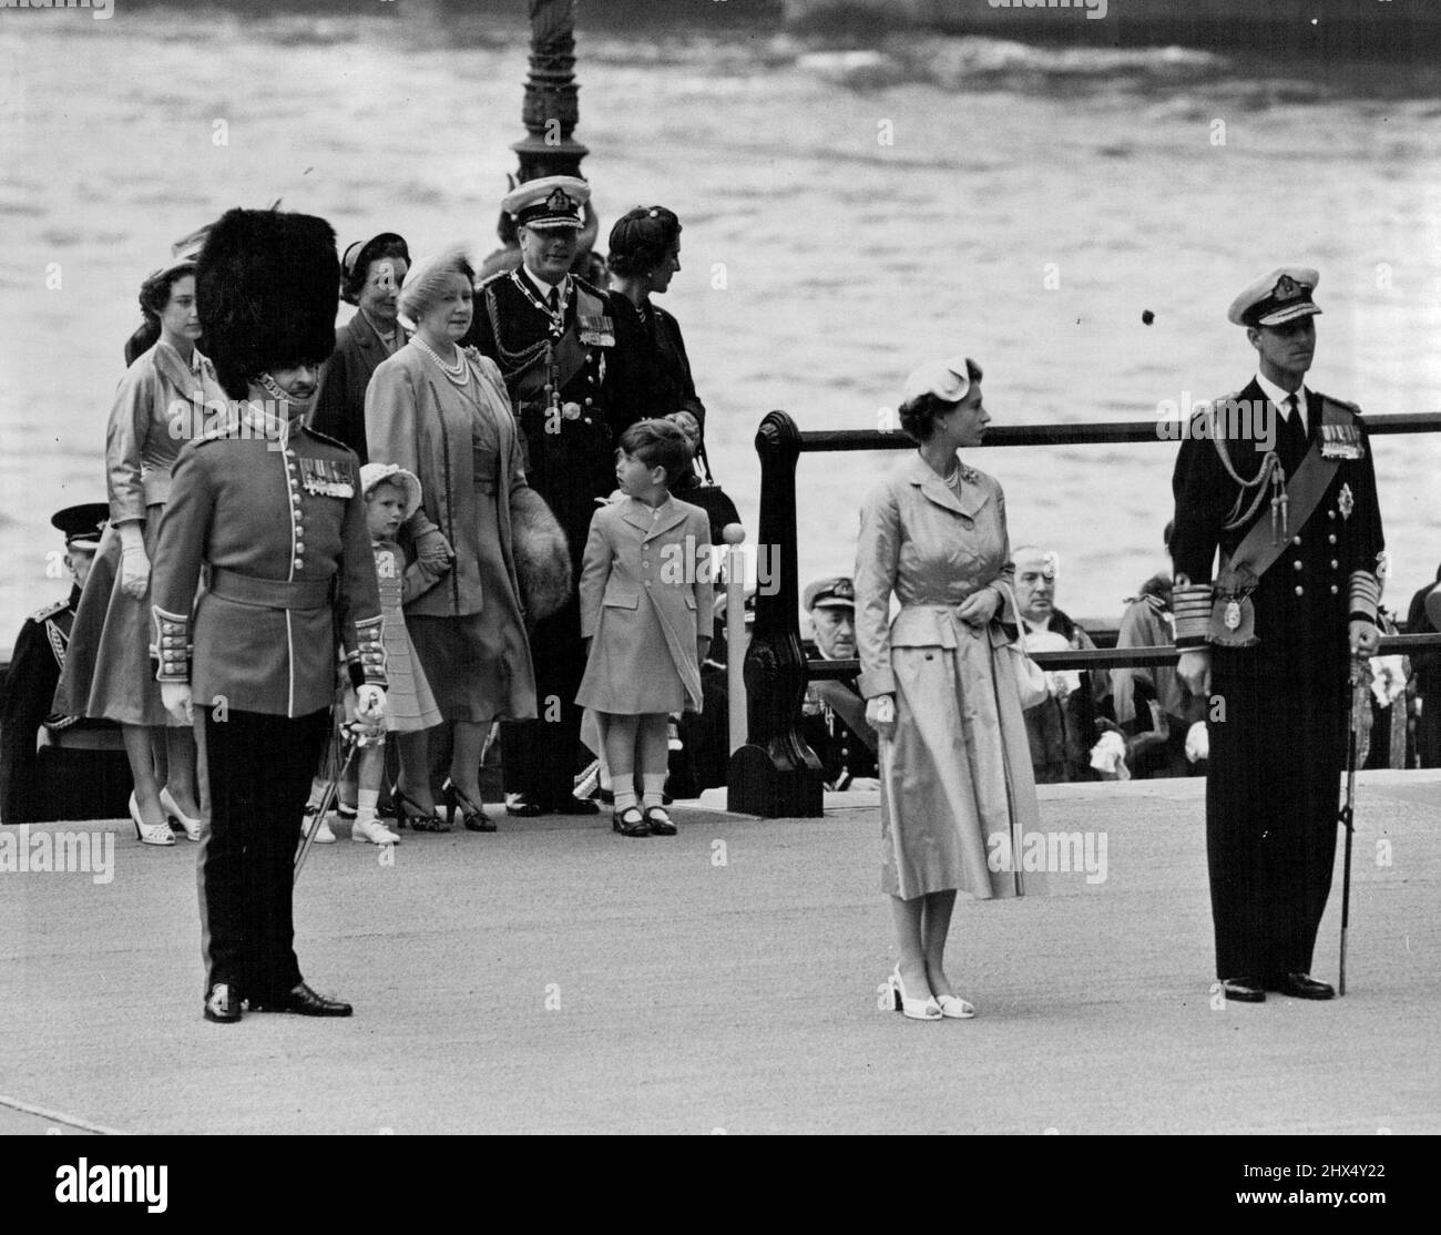
[[[1229,398],[1278,415],[1257,380]],[[1270,419],[1278,425],[1284,506],[1272,503],[1280,489],[1267,478],[1270,455],[1252,440],[1225,441],[1223,457],[1215,441],[1190,438],[1173,478],[1176,646],[1215,644],[1206,855],[1216,973],[1255,977],[1270,989],[1285,989],[1272,983],[1311,968],[1346,762],[1347,624],[1376,620],[1383,549],[1359,409],[1306,389],[1306,414],[1304,437],[1294,412],[1285,422]],[[1329,478],[1314,510],[1300,517],[1297,474],[1313,457],[1324,465],[1313,474]],[[1225,566],[1257,526],[1262,543],[1284,545],[1284,552],[1258,581],[1221,576],[1213,584],[1218,548]]]

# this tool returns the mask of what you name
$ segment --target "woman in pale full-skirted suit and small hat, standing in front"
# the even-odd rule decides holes
[[[880,736],[880,883],[901,945],[889,983],[896,1010],[918,1020],[974,1015],[945,976],[955,893],[1039,891],[1039,875],[1020,872],[1039,819],[1007,647],[1006,499],[957,457],[990,422],[980,382],[964,357],[911,375],[901,427],[919,450],[866,499],[856,546],[860,693]]]

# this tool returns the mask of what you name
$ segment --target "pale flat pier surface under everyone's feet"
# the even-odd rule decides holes
[[[844,804],[842,804],[844,801]],[[0,873],[0,1133],[1441,1131],[1441,774],[1363,774],[1349,993],[1216,1006],[1203,783],[1042,790],[1105,880],[957,905],[978,1016],[878,1007],[878,807],[680,806],[346,839],[297,889],[307,980],[350,1020],[200,1017],[195,847],[114,827],[114,878]],[[1092,852],[1097,852],[1092,847]],[[1336,891],[1314,973],[1336,980]]]

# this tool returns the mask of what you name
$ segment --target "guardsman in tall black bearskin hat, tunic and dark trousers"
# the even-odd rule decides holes
[[[310,429],[334,350],[336,235],[323,219],[231,210],[196,269],[200,321],[232,401],[182,450],[160,527],[154,654],[210,771],[200,849],[205,1016],[349,1016],[300,976],[291,880],[329,736],[336,637],[360,713],[385,709],[380,599],[352,450]],[[209,584],[196,604],[202,566]],[[192,620],[192,607],[195,617]]]

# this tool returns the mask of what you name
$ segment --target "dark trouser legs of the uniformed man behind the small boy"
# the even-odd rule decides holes
[[[575,793],[582,709],[575,692],[585,676],[581,604],[535,624],[530,660],[536,672],[539,721],[510,721],[500,726],[500,759],[506,793],[522,793],[550,808]]]

